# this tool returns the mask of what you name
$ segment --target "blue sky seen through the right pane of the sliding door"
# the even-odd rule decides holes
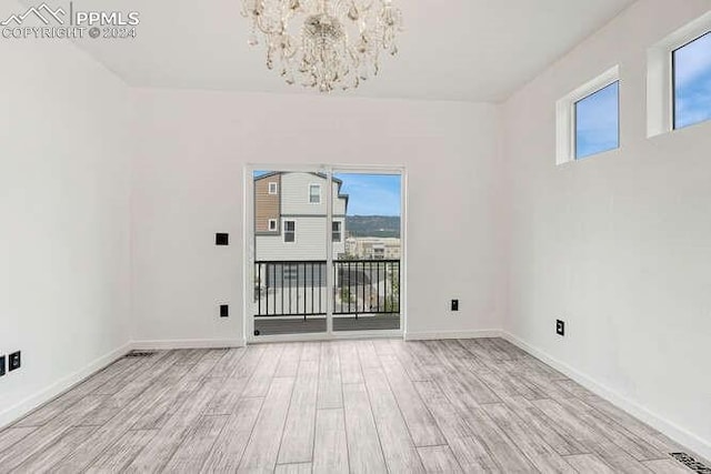
[[[340,173],[341,192],[349,195],[348,215],[400,215],[399,175]]]

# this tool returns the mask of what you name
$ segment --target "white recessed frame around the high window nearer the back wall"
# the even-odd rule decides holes
[[[604,88],[619,82],[618,94],[618,148],[607,150],[600,153],[590,154],[578,160],[577,157],[577,117],[575,105],[578,102],[588,97],[600,92]],[[622,148],[622,85],[623,81],[620,77],[620,65],[615,64],[608,69],[597,78],[584,83],[565,97],[555,102],[555,164],[565,164],[570,162],[584,161],[587,158],[598,157],[605,153],[614,152]]]

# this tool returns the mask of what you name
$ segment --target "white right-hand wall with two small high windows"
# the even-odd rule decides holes
[[[645,61],[648,47],[709,8],[640,1],[504,105],[505,329],[707,455],[711,123],[648,140]],[[621,149],[555,167],[555,101],[617,63]]]

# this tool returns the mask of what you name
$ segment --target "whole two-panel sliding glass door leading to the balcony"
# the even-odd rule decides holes
[[[250,170],[252,340],[401,329],[402,178]]]

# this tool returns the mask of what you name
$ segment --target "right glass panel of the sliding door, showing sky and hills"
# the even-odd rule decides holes
[[[333,331],[400,330],[401,177],[336,172],[333,180],[348,196],[333,214],[333,242],[343,243],[333,261]]]

